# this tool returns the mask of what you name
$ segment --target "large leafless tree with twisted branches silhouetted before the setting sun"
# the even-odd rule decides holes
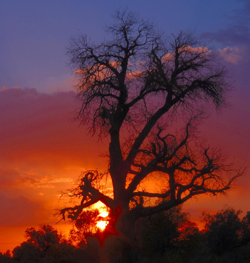
[[[113,196],[98,186],[102,174],[87,171],[72,189],[79,202],[61,214],[76,219],[102,201],[116,231],[133,241],[136,219],[199,194],[225,193],[242,171],[231,175],[219,151],[194,143],[202,105],[225,104],[225,70],[214,53],[188,32],[165,37],[134,12],[117,11],[114,21],[99,45],[81,36],[68,49],[82,105],[77,118],[110,141],[105,176]],[[170,124],[180,119],[186,125],[175,134]]]

